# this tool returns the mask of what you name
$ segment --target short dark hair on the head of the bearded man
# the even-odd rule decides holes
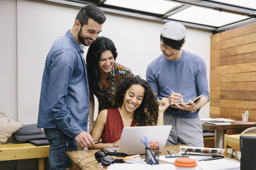
[[[89,18],[92,18],[98,24],[103,24],[106,20],[106,15],[99,7],[94,4],[88,4],[78,11],[76,20],[79,20],[81,27],[83,27],[84,24],[88,23]]]

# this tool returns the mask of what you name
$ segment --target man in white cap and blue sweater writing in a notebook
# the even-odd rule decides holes
[[[164,24],[160,42],[163,53],[148,65],[146,78],[156,97],[168,97],[172,104],[164,115],[164,125],[172,125],[166,144],[204,147],[198,112],[209,101],[206,66],[202,57],[181,49],[185,38],[184,25]],[[204,96],[195,103],[189,100],[200,94]]]

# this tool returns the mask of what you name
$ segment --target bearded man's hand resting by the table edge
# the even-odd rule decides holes
[[[81,132],[79,133],[76,137],[75,137],[77,143],[79,143],[79,145],[81,145],[83,148],[84,147],[92,147],[94,146],[94,141],[92,139],[92,136],[88,133],[88,132]]]

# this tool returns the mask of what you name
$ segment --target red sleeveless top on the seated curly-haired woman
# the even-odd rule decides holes
[[[132,119],[130,126],[135,126],[135,120]],[[124,123],[118,108],[108,109],[108,115],[106,120],[105,130],[102,134],[102,141],[112,139],[106,143],[114,143],[121,138],[122,131],[124,129]]]

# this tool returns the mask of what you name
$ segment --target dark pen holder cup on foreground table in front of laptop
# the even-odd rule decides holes
[[[148,164],[159,164],[159,148],[145,148],[145,161]]]

